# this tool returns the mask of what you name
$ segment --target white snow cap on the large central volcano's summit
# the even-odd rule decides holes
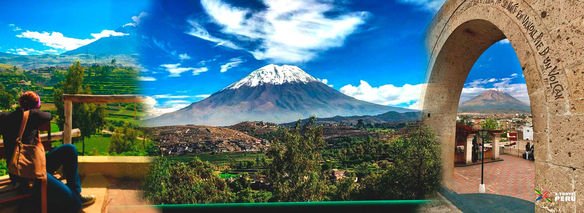
[[[224,89],[237,89],[243,85],[246,86],[258,86],[265,83],[273,85],[281,85],[283,83],[293,83],[293,82],[315,82],[318,81],[316,78],[308,75],[302,69],[293,65],[276,65],[268,64],[262,68],[256,69],[248,76],[245,76],[239,81],[232,83]]]

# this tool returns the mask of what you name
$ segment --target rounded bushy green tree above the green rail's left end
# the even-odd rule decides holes
[[[142,183],[142,194],[155,204],[229,203],[235,196],[213,165],[195,158],[176,162],[158,157]]]

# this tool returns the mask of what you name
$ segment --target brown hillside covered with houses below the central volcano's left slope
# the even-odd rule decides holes
[[[211,127],[207,125],[173,125],[162,127],[144,127],[141,128],[150,139],[155,141],[181,141],[181,142],[198,142],[198,141],[218,141],[227,139],[227,141],[248,141],[257,140],[257,138],[244,134],[243,132],[231,130],[224,127]]]

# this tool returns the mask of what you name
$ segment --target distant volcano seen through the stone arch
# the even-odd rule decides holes
[[[521,102],[499,89],[486,90],[481,95],[458,104],[459,113],[530,113],[529,103]]]

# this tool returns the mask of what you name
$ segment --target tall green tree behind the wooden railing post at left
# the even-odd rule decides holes
[[[69,67],[69,72],[65,80],[55,85],[53,97],[55,107],[57,107],[57,125],[60,130],[65,123],[65,103],[63,94],[68,95],[91,95],[91,88],[83,86],[83,74],[85,69],[81,67],[79,61]],[[81,140],[83,143],[82,153],[85,154],[85,138],[91,137],[105,124],[107,116],[105,104],[94,103],[73,103],[72,107],[72,128],[81,130],[81,137],[74,141]]]

